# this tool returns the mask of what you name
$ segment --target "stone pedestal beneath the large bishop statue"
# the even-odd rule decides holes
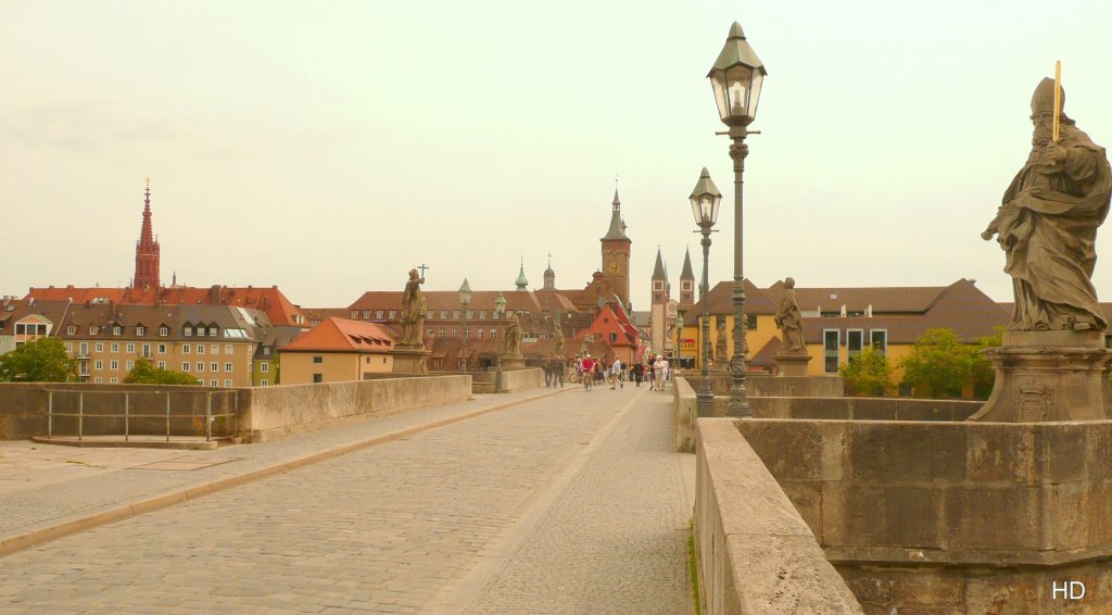
[[[1007,331],[982,350],[996,380],[969,420],[1043,423],[1112,418],[1112,350],[1103,331]]]

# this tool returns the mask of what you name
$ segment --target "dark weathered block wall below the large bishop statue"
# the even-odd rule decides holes
[[[1112,421],[735,425],[867,613],[1112,612]]]

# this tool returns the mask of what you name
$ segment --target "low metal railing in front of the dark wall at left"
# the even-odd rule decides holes
[[[54,407],[54,398],[63,396],[77,396],[77,411],[57,411]],[[205,414],[193,414],[193,400],[197,396],[205,396]],[[123,413],[87,413],[85,399],[86,396],[122,396],[123,400]],[[141,397],[149,396],[162,396],[166,398],[165,413],[150,414],[149,411],[135,413],[132,411],[132,401],[138,400]],[[171,406],[171,399],[177,396],[179,398],[186,398],[189,400],[189,414],[178,413],[175,414]],[[224,408],[218,408],[218,411],[214,413],[212,400],[214,397],[218,399],[218,405],[224,406]],[[230,399],[230,401],[229,401]],[[219,400],[224,403],[220,404]],[[150,407],[150,404],[147,404]],[[159,404],[159,407],[162,407]],[[227,429],[228,434],[224,437],[235,436],[239,428],[238,413],[239,410],[239,396],[236,390],[210,390],[210,391],[83,391],[83,390],[48,390],[47,391],[47,438],[54,437],[54,417],[72,417],[77,419],[77,439],[80,442],[85,438],[85,420],[88,419],[111,419],[111,418],[122,418],[123,419],[123,442],[130,442],[132,430],[131,421],[133,419],[162,419],[166,426],[166,442],[170,442],[171,420],[189,419],[195,420],[200,417],[205,417],[205,442],[212,442],[212,424],[218,418],[229,418],[229,426],[235,419],[236,428]],[[119,434],[108,434],[108,435],[119,435]],[[143,434],[153,435],[153,434]],[[218,435],[217,437],[221,437]]]

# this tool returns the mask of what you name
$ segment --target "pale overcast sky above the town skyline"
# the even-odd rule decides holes
[[[306,307],[539,287],[599,265],[614,178],[648,308],[703,166],[732,167],[705,78],[733,21],[768,69],[745,177],[758,286],[934,286],[1010,300],[980,231],[1026,159],[1031,92],[1112,143],[1108,0],[894,2],[0,0],[0,294],[125,285],[151,177],[162,279]],[[1098,240],[1112,300],[1112,228]]]

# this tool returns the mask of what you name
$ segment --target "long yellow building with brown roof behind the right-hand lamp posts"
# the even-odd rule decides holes
[[[723,281],[708,295],[712,353],[716,350],[718,330],[724,327],[726,357],[733,355],[732,292],[733,282]],[[745,280],[749,370],[776,371],[773,357],[780,348],[780,333],[774,316],[783,294],[783,282],[759,289]],[[896,367],[900,359],[911,353],[915,340],[929,329],[953,329],[963,341],[976,344],[980,338],[993,335],[994,327],[1009,321],[1005,307],[966,279],[950,286],[931,287],[796,287],[795,295],[804,318],[804,341],[812,357],[807,373],[813,376],[837,374],[840,367],[868,347],[884,353]],[[696,316],[702,318],[698,300],[694,309]],[[694,320],[685,318],[687,323]],[[701,357],[702,353],[697,349],[702,336],[697,325],[685,327],[684,337],[693,340],[683,345],[684,355]],[[699,359],[696,366],[701,365]],[[717,356],[715,365],[721,365]],[[896,368],[893,384],[898,385],[902,379],[903,373]]]

